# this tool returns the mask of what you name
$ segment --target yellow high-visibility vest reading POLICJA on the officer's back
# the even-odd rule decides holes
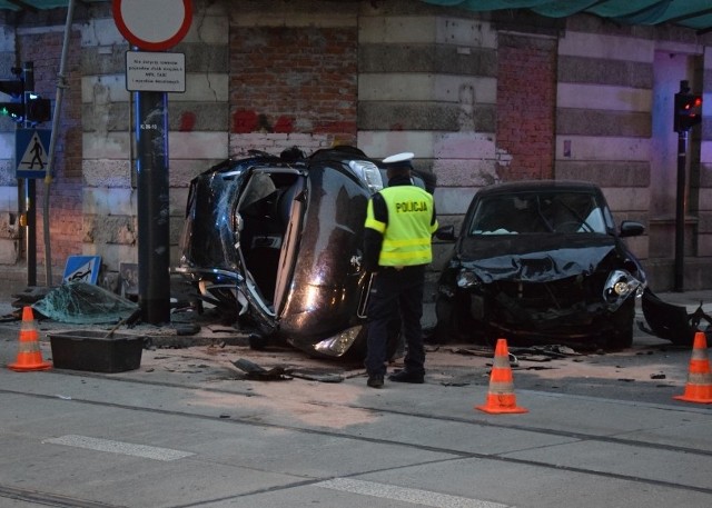
[[[386,187],[380,191],[388,209],[388,223],[374,217],[373,200],[366,211],[367,228],[383,235],[378,265],[408,267],[433,260],[431,237],[437,229],[433,220],[433,196],[416,186]]]

